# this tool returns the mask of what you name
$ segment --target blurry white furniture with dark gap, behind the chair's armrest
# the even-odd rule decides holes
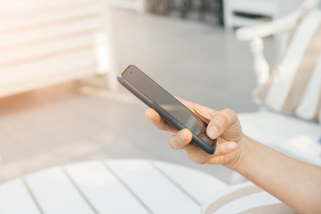
[[[226,29],[262,24],[295,10],[303,0],[224,0]]]

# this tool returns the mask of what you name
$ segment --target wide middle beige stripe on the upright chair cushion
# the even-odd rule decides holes
[[[300,103],[321,53],[321,25],[308,45],[292,82],[283,111],[293,112]]]

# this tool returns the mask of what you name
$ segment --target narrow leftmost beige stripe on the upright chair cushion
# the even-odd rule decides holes
[[[300,17],[297,19],[296,25],[293,28],[292,33],[289,36],[288,45],[287,45],[286,50],[284,50],[282,56],[280,57],[280,59],[278,60],[276,65],[274,66],[274,68],[273,68],[273,70],[271,72],[271,76],[270,76],[269,80],[257,92],[256,98],[261,100],[262,102],[264,102],[266,96],[268,95],[268,92],[270,90],[271,84],[273,83],[273,81],[274,81],[274,79],[275,79],[275,77],[276,77],[276,75],[278,73],[278,67],[282,64],[285,56],[287,55],[289,46],[292,43],[292,40],[293,40],[294,35],[295,35],[295,33],[296,33],[297,29],[298,29],[298,26],[302,23],[302,20],[304,19],[304,17],[306,17],[307,14],[309,14],[309,12],[310,12],[310,10],[308,10],[308,9],[303,9],[302,10]]]

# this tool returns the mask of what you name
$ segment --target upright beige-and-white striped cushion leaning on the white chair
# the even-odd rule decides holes
[[[255,98],[269,108],[308,120],[321,110],[321,11],[303,12],[288,49]]]

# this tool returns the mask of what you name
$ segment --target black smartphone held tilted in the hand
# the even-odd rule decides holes
[[[126,89],[158,112],[177,130],[189,129],[193,134],[192,143],[198,145],[205,152],[214,154],[216,139],[212,140],[206,135],[208,123],[190,111],[145,73],[130,65],[118,75],[117,79]]]

